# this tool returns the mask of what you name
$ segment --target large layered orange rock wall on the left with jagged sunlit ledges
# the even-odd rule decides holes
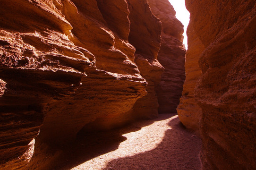
[[[118,25],[100,4],[1,1],[1,161],[22,154],[39,129],[37,140],[54,144],[97,118],[109,120],[99,128],[122,124],[127,119],[115,118],[146,94],[128,43],[126,1],[112,2],[124,20]]]

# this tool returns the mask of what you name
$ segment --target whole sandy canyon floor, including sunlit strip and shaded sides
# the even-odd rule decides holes
[[[128,127],[97,136],[97,142],[91,141],[91,144],[87,142],[85,148],[75,148],[76,152],[70,152],[66,162],[63,162],[65,165],[60,169],[200,170],[201,168],[199,158],[201,140],[182,126],[177,115],[160,114],[157,119],[136,122]],[[88,148],[91,152],[85,152]]]

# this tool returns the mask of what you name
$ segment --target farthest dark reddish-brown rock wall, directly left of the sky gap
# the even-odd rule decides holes
[[[185,49],[183,25],[175,17],[175,10],[168,0],[148,0],[154,15],[162,22],[161,48],[157,59],[164,67],[161,82],[156,87],[159,113],[174,113],[179,104],[185,80]]]

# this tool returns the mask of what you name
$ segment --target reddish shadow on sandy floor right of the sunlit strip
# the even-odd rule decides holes
[[[200,170],[201,140],[185,130],[178,117],[168,125],[171,129],[156,148],[112,160],[102,170]]]

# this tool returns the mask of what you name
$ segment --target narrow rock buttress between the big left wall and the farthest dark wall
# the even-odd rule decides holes
[[[132,110],[136,117],[153,118],[158,114],[155,87],[161,80],[162,65],[157,60],[162,24],[150,10],[147,0],[127,0],[131,22],[129,42],[136,48],[135,62],[146,79],[147,95],[139,99]]]

